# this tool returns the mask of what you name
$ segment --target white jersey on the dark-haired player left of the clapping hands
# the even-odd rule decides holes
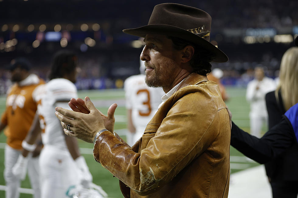
[[[68,151],[61,122],[55,116],[55,107],[63,105],[61,107],[71,110],[67,101],[78,97],[76,86],[68,79],[52,79],[46,84],[38,86],[33,97],[38,104],[37,113],[43,132],[43,144]]]

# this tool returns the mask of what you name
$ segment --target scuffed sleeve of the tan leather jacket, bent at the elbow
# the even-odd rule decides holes
[[[175,100],[167,110],[158,110],[167,115],[161,123],[147,126],[146,131],[152,132],[132,148],[108,131],[101,133],[94,146],[95,160],[140,195],[160,189],[204,152],[220,133],[220,114],[228,115],[225,106],[218,109],[212,96],[199,92]],[[138,153],[146,138],[146,148]]]

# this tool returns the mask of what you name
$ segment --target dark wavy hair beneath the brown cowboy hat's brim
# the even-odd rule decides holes
[[[191,45],[195,49],[195,52],[192,56],[192,59],[189,61],[189,64],[193,69],[195,69],[198,74],[206,76],[208,73],[211,72],[210,62],[213,61],[213,59],[215,58],[215,54],[205,49],[201,49],[198,45],[186,41],[185,39],[180,39],[173,36],[168,36],[168,38],[172,40],[174,48],[177,50],[181,50],[187,45]]]

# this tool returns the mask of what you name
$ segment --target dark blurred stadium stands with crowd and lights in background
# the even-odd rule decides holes
[[[5,65],[13,58],[28,58],[33,72],[46,79],[50,57],[59,49],[78,54],[82,69],[78,89],[122,88],[127,77],[139,72],[143,47],[141,39],[122,30],[147,24],[158,3],[162,2],[0,0],[0,94],[10,86]],[[229,57],[227,63],[212,64],[223,69],[224,85],[246,86],[260,65],[275,78],[282,54],[298,34],[296,0],[186,0],[184,4],[213,18],[210,40]]]

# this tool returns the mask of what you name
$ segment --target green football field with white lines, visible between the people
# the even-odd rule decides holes
[[[245,89],[228,87],[227,93],[230,99],[226,102],[228,108],[232,112],[232,120],[245,131],[249,131],[249,104],[245,100]],[[118,107],[115,112],[115,131],[125,138],[126,133],[126,109],[124,101],[123,89],[111,89],[111,90],[90,90],[90,91],[79,91],[79,97],[84,98],[89,96],[91,101],[94,102],[95,106],[103,113],[107,112],[109,105],[116,102]],[[0,114],[5,109],[5,96],[0,96]],[[263,132],[266,131],[264,126]],[[3,132],[0,134],[0,197],[5,197],[5,191],[1,190],[5,186],[3,177],[4,170],[4,147],[6,137]],[[108,197],[117,198],[123,197],[119,189],[119,180],[113,177],[108,170],[103,168],[99,163],[95,162],[92,156],[93,144],[83,142],[79,140],[79,146],[81,153],[85,157],[89,166],[90,172],[93,175],[93,182],[99,186],[102,186],[103,190],[108,193]],[[247,169],[253,166],[257,166],[258,163],[252,162],[244,157],[241,153],[235,150],[233,147],[230,149],[230,167],[231,173]],[[22,182],[22,188],[30,188],[28,176]],[[21,193],[21,198],[31,198],[31,194]]]

